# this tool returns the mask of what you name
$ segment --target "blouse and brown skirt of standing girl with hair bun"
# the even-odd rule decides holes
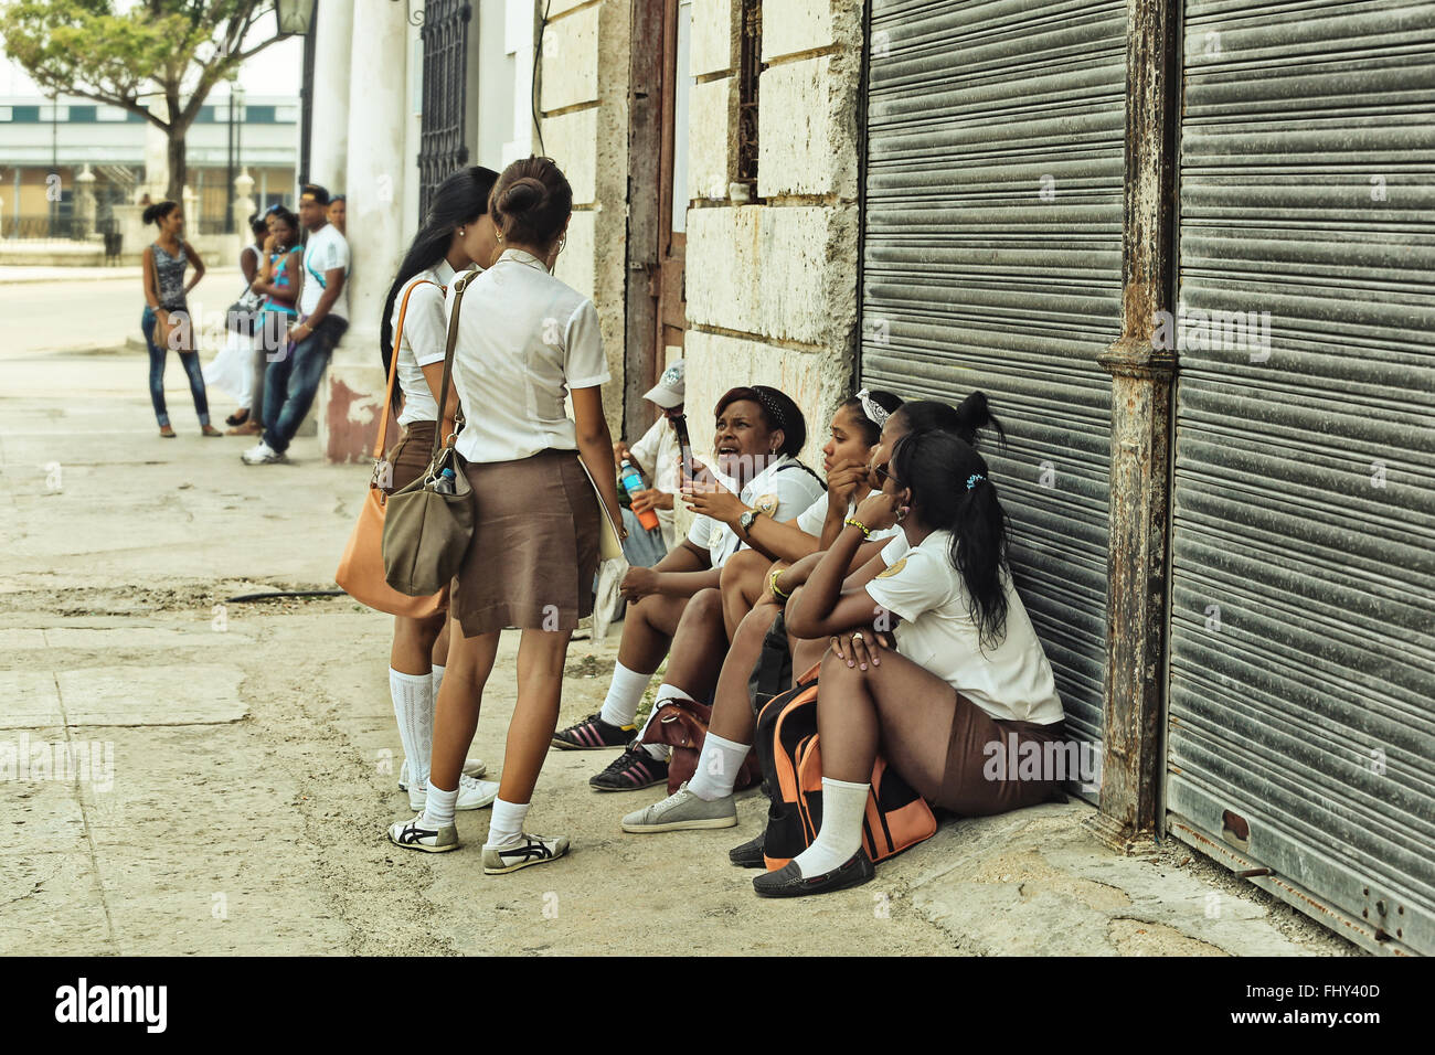
[[[564,400],[610,380],[598,311],[511,248],[469,283],[456,324],[456,449],[476,505],[449,611],[468,637],[571,632],[593,613],[601,512]]]

